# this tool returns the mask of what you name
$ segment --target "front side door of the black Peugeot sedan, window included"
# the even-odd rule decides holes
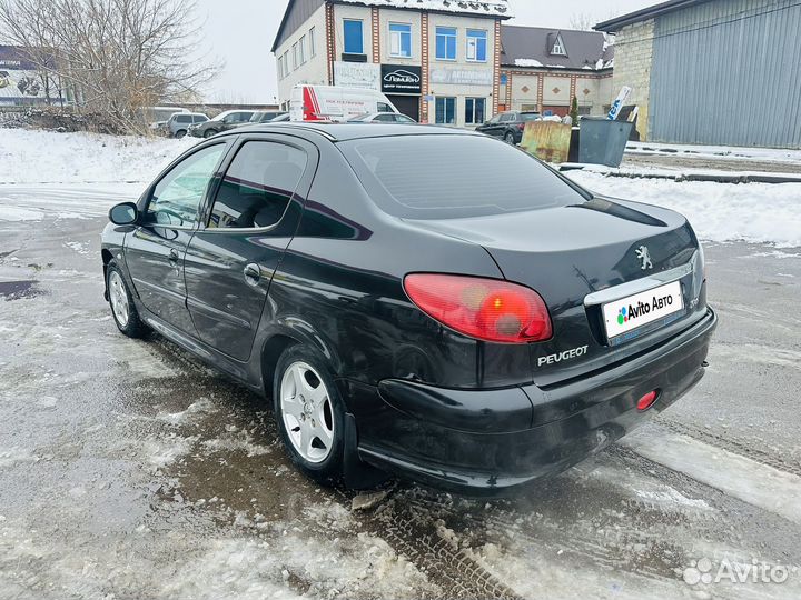
[[[141,303],[191,336],[196,332],[186,307],[184,256],[227,149],[225,141],[206,144],[160,177],[142,197],[140,222],[125,241],[126,266]]]

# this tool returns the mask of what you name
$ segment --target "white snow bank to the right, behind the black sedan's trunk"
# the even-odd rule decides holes
[[[684,214],[703,240],[801,247],[801,183],[713,183],[565,173],[589,190]]]

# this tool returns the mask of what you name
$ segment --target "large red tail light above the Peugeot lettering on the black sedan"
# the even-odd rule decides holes
[[[547,340],[553,334],[542,297],[516,283],[414,273],[404,279],[404,289],[428,317],[471,338],[525,343]]]

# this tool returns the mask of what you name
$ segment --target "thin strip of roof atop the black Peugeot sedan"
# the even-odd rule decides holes
[[[243,133],[279,133],[279,132],[313,132],[319,133],[330,141],[348,141],[366,138],[387,138],[398,136],[477,136],[484,137],[474,131],[454,129],[444,126],[431,126],[419,123],[314,123],[314,122],[283,122],[283,123],[261,123],[246,127],[238,127],[229,131],[229,136],[240,136]]]

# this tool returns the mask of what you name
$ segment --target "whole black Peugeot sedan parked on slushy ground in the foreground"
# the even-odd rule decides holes
[[[682,216],[471,132],[236,129],[109,217],[120,331],[271,398],[294,462],[350,487],[562,471],[698,383],[716,324]]]

